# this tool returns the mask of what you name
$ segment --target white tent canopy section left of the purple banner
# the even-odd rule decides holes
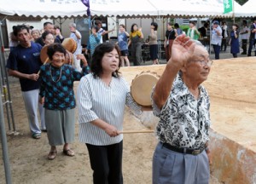
[[[1,0],[0,14],[32,17],[75,17],[86,15],[80,0]]]

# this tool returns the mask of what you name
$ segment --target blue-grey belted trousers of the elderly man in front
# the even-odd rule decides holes
[[[158,143],[153,157],[153,184],[208,184],[207,152],[199,155],[173,152]]]

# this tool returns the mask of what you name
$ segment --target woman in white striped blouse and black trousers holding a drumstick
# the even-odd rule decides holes
[[[130,86],[120,76],[117,44],[102,43],[92,55],[91,73],[79,83],[79,140],[85,143],[93,170],[93,183],[122,184],[125,105],[140,113]]]

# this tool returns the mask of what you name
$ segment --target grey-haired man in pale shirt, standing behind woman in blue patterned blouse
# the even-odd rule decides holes
[[[82,45],[81,45],[81,40],[82,40],[82,35],[81,33],[76,29],[76,24],[75,23],[70,23],[69,24],[69,30],[70,30],[70,36],[76,41],[78,47],[76,51],[73,53],[73,66],[76,68],[79,72],[82,71],[81,65],[80,65],[80,60],[77,59],[77,55],[82,53]]]

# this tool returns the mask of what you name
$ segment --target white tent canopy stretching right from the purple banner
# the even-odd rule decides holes
[[[224,14],[224,0],[93,0],[90,1],[92,15],[139,17],[232,17],[233,12]],[[234,2],[236,17],[256,16],[255,0],[243,6]]]

